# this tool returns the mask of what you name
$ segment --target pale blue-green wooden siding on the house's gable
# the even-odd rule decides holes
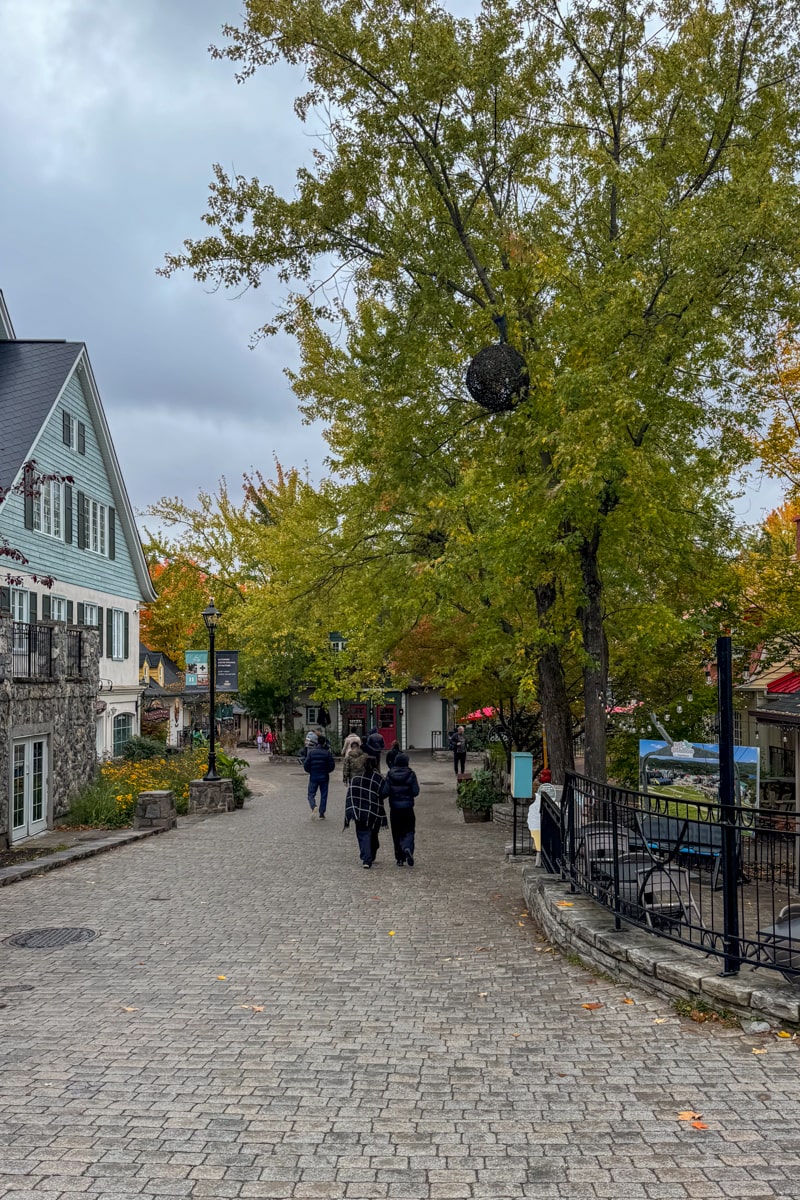
[[[85,455],[79,454],[77,446],[73,450],[64,444],[65,410],[74,420],[83,421],[86,426]],[[113,509],[116,509],[116,499],[112,492],[86,400],[77,374],[70,379],[59,403],[42,430],[34,457],[41,472],[74,478],[72,485],[72,545],[34,529],[25,529],[23,497],[10,496],[0,510],[0,532],[29,560],[29,565],[23,568],[20,574],[53,575],[55,578],[77,587],[88,587],[131,600],[144,599],[120,526],[119,514],[116,514],[115,520],[116,557],[114,559],[95,554],[90,550],[78,548],[78,492],[83,492],[91,499]],[[7,565],[13,570],[12,564]]]

